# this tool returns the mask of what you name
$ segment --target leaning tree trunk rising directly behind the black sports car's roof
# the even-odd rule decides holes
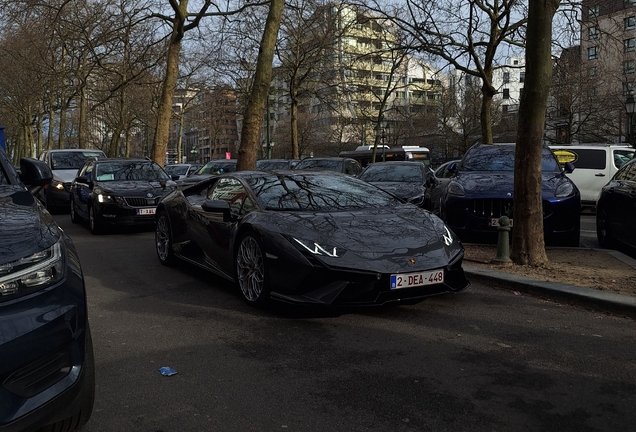
[[[245,109],[243,129],[241,131],[241,145],[236,164],[236,169],[239,171],[256,168],[259,130],[263,122],[263,111],[265,110],[265,102],[269,95],[269,87],[272,81],[274,47],[284,6],[285,0],[272,0],[269,5],[265,30],[263,31],[258,59],[256,60],[254,83],[252,84],[252,91]]]

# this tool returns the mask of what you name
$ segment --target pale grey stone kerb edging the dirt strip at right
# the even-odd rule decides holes
[[[593,249],[591,249],[593,250]],[[631,266],[636,272],[636,260],[617,251],[603,251],[610,253],[620,261]],[[505,271],[480,268],[464,261],[464,271],[469,280],[489,283],[514,291],[532,295],[553,298],[555,300],[578,304],[592,309],[613,312],[636,318],[636,297],[567,285],[559,282],[541,281],[534,278],[519,276]]]

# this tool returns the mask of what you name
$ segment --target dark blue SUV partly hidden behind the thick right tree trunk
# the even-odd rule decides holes
[[[513,218],[514,159],[514,144],[476,144],[460,163],[451,164],[455,174],[441,194],[440,214],[463,241],[494,243],[499,217]],[[543,146],[541,168],[546,243],[578,246],[581,196],[565,175],[573,167],[562,170]]]

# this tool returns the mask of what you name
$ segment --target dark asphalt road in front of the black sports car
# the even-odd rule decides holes
[[[56,219],[87,284],[84,431],[634,430],[632,319],[482,284],[413,306],[262,311],[222,279],[162,267],[152,232]]]

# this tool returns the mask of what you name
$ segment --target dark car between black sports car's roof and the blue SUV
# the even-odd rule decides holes
[[[429,201],[429,186],[435,185],[433,171],[421,162],[376,162],[358,178],[422,208]]]

